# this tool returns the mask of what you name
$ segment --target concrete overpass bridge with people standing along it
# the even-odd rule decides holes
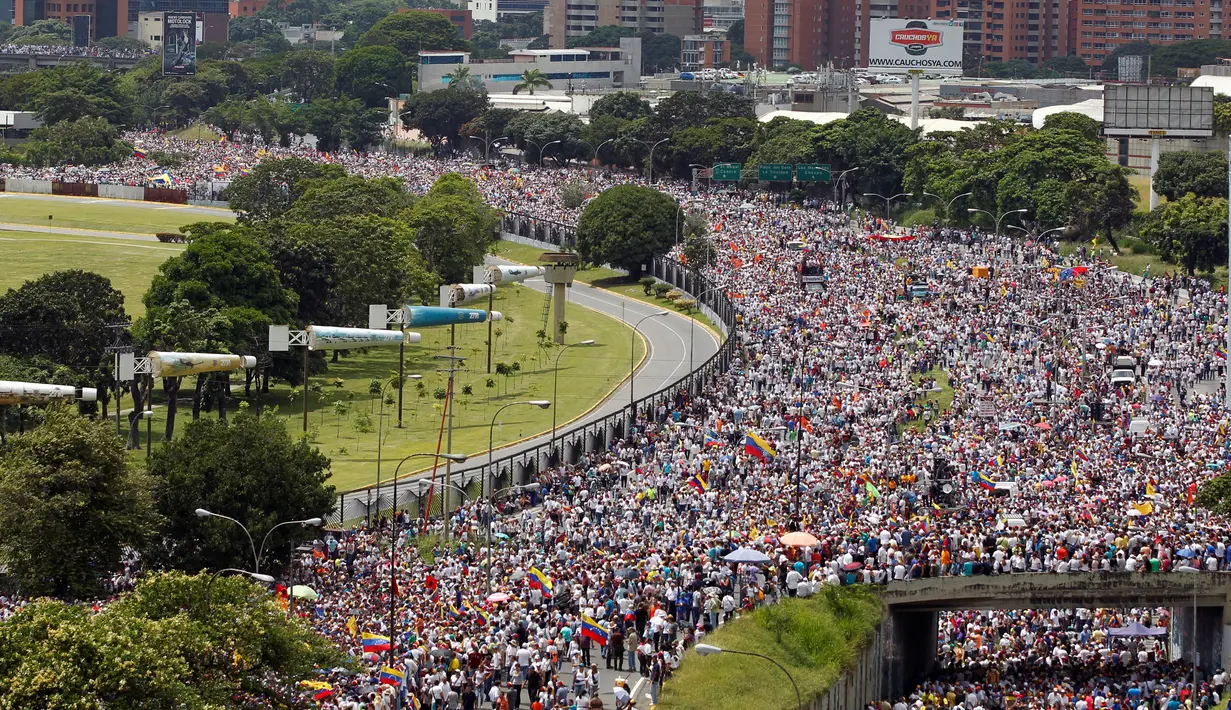
[[[894,696],[932,671],[939,613],[959,609],[1163,607],[1185,658],[1208,674],[1231,667],[1231,572],[1078,572],[938,577],[883,588],[883,666]],[[1193,614],[1197,637],[1193,637]]]

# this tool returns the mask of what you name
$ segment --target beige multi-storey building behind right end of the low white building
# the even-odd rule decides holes
[[[683,37],[703,30],[704,7],[702,0],[550,0],[543,10],[543,33],[555,49],[609,25]]]

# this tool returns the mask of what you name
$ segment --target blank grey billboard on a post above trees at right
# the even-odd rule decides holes
[[[1103,133],[1206,138],[1214,134],[1214,90],[1108,85],[1103,90]]]

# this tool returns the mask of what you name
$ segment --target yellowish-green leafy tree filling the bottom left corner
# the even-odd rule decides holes
[[[251,581],[150,575],[98,613],[39,600],[0,624],[0,706],[299,708],[294,683],[340,660]]]

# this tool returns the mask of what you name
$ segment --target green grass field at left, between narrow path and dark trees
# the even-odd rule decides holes
[[[158,267],[181,251],[183,246],[175,244],[10,231],[0,226],[0,263],[5,265],[0,269],[0,293],[48,272],[80,268],[110,278],[124,294],[124,310],[137,317],[145,313],[142,295]]]

